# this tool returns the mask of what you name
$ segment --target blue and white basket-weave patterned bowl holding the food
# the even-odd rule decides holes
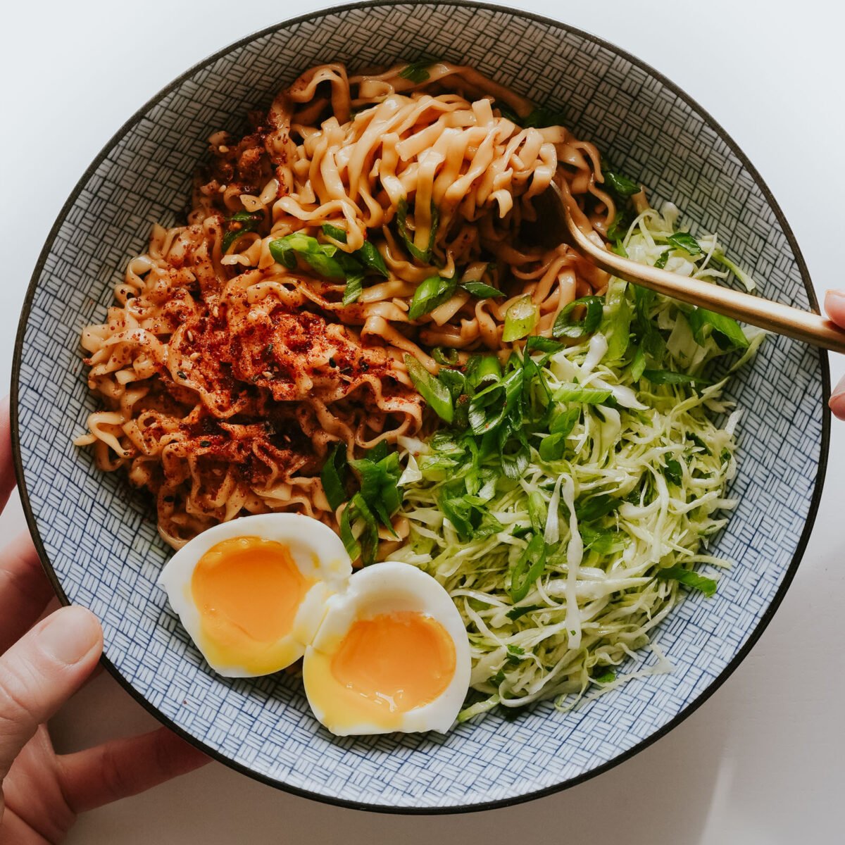
[[[799,564],[826,464],[826,356],[773,337],[729,394],[747,413],[717,553],[736,561],[717,597],[690,597],[657,641],[671,674],[632,681],[563,714],[545,703],[440,735],[335,739],[297,679],[211,673],[155,586],[168,549],[123,477],[72,444],[95,403],[79,332],[100,322],[127,259],[154,221],[177,221],[205,139],[315,63],[398,58],[469,63],[539,102],[563,106],[659,203],[717,229],[762,294],[815,297],[799,248],[760,176],[668,79],[591,35],[532,14],[466,3],[358,4],[239,41],[155,96],[106,145],[65,204],[32,277],[13,374],[14,444],[25,510],[67,602],[102,620],[106,665],[155,716],[228,765],[291,792],[373,810],[488,808],[570,786],[634,754],[689,715],[737,667]]]

